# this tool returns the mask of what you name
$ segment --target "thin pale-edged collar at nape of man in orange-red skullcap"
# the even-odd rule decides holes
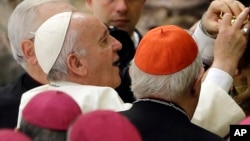
[[[137,99],[136,101],[133,102],[134,103],[138,103],[138,102],[145,102],[145,101],[150,101],[150,102],[154,102],[154,103],[159,103],[159,104],[162,104],[162,105],[165,105],[165,106],[168,106],[168,107],[172,107],[174,108],[175,110],[183,113],[188,119],[190,119],[188,116],[187,116],[187,113],[181,109],[179,106],[175,105],[174,103],[172,102],[167,102],[167,101],[162,101],[162,100],[157,100],[157,99],[149,99],[149,98],[143,98],[143,99]]]

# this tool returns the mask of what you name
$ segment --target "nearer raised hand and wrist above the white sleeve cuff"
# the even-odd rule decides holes
[[[219,68],[231,76],[236,72],[239,60],[246,49],[248,34],[243,28],[249,30],[250,24],[245,22],[249,12],[250,9],[245,8],[233,24],[231,24],[233,15],[230,13],[225,13],[218,21],[219,32],[215,40],[212,67]]]

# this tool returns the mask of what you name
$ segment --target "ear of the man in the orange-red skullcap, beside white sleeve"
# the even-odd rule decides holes
[[[194,83],[192,90],[191,90],[191,93],[194,96],[199,96],[199,94],[200,94],[201,82],[202,82],[203,75],[204,75],[204,68],[201,68],[199,75],[198,75],[197,79],[195,80],[195,83]]]

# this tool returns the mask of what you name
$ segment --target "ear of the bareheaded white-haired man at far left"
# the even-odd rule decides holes
[[[35,46],[33,41],[28,39],[23,40],[21,43],[21,50],[28,63],[33,65],[37,63]]]

